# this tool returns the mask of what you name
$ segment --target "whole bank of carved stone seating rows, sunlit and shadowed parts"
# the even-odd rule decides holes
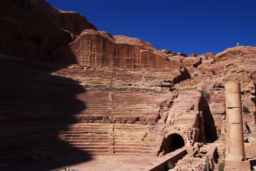
[[[0,54],[0,162],[41,154],[140,155],[159,150],[150,145],[156,139],[149,132],[151,123],[159,115],[153,109],[173,97],[170,82],[182,79],[179,72],[75,67],[81,66]]]

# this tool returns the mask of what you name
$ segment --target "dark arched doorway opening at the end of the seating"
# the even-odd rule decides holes
[[[163,139],[160,152],[164,150],[167,153],[169,153],[183,146],[185,146],[185,143],[182,136],[180,136],[177,133],[173,133],[173,134],[170,134],[167,138]]]

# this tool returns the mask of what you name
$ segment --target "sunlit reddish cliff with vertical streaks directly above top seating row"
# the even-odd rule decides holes
[[[77,39],[56,49],[52,60],[62,64],[83,64],[118,68],[176,68],[153,45],[136,38],[111,36],[104,31],[84,30]]]

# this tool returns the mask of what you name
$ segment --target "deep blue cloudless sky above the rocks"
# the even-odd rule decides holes
[[[256,46],[256,0],[46,0],[98,30],[143,39],[158,50],[215,54]]]

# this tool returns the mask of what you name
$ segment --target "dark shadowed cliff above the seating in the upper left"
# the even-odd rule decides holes
[[[0,52],[43,61],[84,29],[95,29],[83,15],[54,9],[44,0],[0,1]]]

